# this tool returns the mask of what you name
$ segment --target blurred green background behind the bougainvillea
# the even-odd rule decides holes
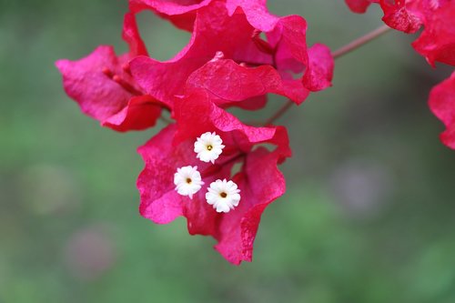
[[[414,53],[416,36],[340,58],[334,86],[278,121],[288,192],[264,213],[254,261],[234,267],[183,219],[138,215],[136,147],[156,130],[102,128],[62,89],[56,59],[126,50],[126,2],[0,0],[0,302],[455,302],[455,152],[427,106],[450,68]],[[377,7],[353,15],[340,0],[269,7],[333,48],[381,25]],[[188,41],[139,19],[158,59]]]

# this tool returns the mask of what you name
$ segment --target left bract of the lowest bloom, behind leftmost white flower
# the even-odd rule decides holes
[[[158,224],[167,224],[176,217],[185,216],[191,234],[214,235],[216,214],[207,205],[203,191],[193,199],[177,194],[173,183],[177,167],[197,165],[200,171],[207,164],[198,162],[193,152],[193,142],[172,145],[176,126],[163,129],[138,148],[146,167],[137,179],[141,196],[140,213]]]

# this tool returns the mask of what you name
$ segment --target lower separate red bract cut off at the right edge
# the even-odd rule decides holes
[[[449,79],[433,87],[430,92],[430,109],[446,126],[440,140],[455,149],[455,72]]]

